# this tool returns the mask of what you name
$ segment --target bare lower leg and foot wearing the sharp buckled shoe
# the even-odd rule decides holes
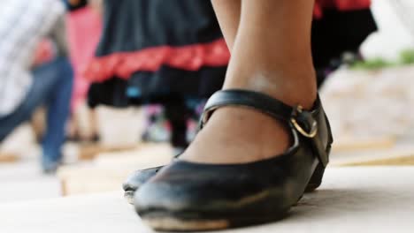
[[[215,8],[219,10],[218,4],[216,1]],[[310,0],[242,0],[235,37],[228,30],[234,26],[226,22],[237,21],[236,16],[221,20],[219,13],[226,40],[229,45],[234,41],[224,88],[270,94],[288,105],[310,109],[317,94],[311,59],[313,4]],[[269,116],[255,110],[224,108],[211,116],[180,158],[209,163],[253,162],[284,152],[289,140],[285,128]]]

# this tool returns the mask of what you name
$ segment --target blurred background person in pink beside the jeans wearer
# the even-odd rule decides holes
[[[96,46],[102,34],[101,10],[96,1],[65,0],[69,12],[66,26],[71,63],[73,64],[73,96],[68,139],[75,141],[97,141],[96,112],[86,108],[90,81],[85,79],[85,65],[94,57]],[[85,107],[85,108],[83,108]],[[90,127],[81,127],[82,116],[88,119]]]

